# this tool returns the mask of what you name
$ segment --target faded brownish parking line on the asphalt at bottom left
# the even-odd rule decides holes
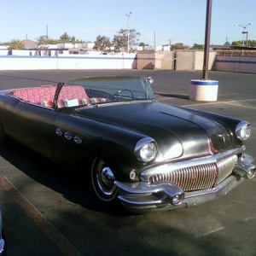
[[[44,234],[49,237],[56,247],[59,247],[62,253],[67,256],[82,256],[79,251],[73,247],[73,245],[67,241],[65,236],[55,229],[46,218],[38,212],[38,210],[32,206],[32,204],[26,200],[26,198],[15,188],[7,177],[0,174],[0,186],[16,201],[16,203],[23,209],[26,214],[32,218],[33,222],[38,225],[40,230],[44,231]]]

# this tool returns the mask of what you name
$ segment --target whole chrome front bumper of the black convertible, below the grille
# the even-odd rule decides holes
[[[230,156],[231,153],[234,154],[234,150],[228,151],[224,156]],[[221,155],[222,157],[223,155]],[[164,181],[160,183],[115,181],[115,184],[118,188],[119,200],[130,212],[159,212],[191,207],[226,195],[241,183],[244,177],[252,178],[255,173],[252,161],[253,159],[249,155],[241,154],[236,165],[234,164],[230,176],[225,177],[222,182],[217,183],[211,189],[195,189],[192,192],[184,192],[176,184]]]

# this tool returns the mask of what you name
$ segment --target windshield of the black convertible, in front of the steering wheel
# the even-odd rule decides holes
[[[58,106],[73,107],[107,102],[154,100],[148,79],[131,77],[94,77],[73,79],[61,88]]]

